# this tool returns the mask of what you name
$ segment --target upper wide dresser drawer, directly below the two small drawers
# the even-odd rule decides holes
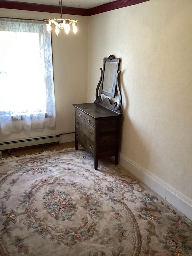
[[[95,141],[95,127],[89,125],[79,116],[76,116],[76,128],[86,134],[91,140]]]

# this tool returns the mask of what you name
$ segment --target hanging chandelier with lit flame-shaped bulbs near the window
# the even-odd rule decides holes
[[[70,31],[70,24],[72,24],[73,33],[76,35],[77,23],[79,23],[78,20],[63,19],[62,0],[59,0],[59,5],[60,5],[60,19],[45,20],[47,31],[49,33],[51,32],[51,23],[53,23],[55,25],[55,33],[56,33],[57,36],[58,36],[58,33],[59,33],[60,29],[64,29],[65,33],[68,35],[69,31]]]

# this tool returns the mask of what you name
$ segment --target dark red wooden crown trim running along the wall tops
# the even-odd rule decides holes
[[[115,9],[131,6],[131,5],[137,5],[147,1],[150,1],[150,0],[116,0],[104,5],[91,8],[91,9],[63,7],[62,13],[80,15],[80,16],[91,16],[91,15],[103,13],[106,11],[112,11]],[[0,0],[0,8],[25,10],[25,11],[39,11],[39,12],[59,14],[59,6],[32,4],[32,3],[26,3],[26,2],[15,2],[15,1],[12,2],[12,1]]]

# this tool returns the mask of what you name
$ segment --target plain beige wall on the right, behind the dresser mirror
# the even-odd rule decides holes
[[[151,0],[89,17],[88,102],[103,58],[122,59],[120,151],[192,199],[192,1]]]

